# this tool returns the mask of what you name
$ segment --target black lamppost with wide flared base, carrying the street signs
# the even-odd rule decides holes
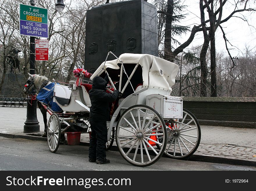
[[[30,5],[35,6],[35,0],[30,0]],[[63,0],[57,0],[57,3],[55,4],[56,10],[58,12],[61,12],[65,4],[63,3]],[[29,64],[30,64],[30,74],[35,74],[35,37],[30,36],[30,54],[29,54]],[[34,90],[35,91],[35,90]],[[37,113],[36,113],[36,106],[37,106],[37,100],[34,99],[35,97],[33,94],[36,92],[31,92],[31,94],[28,94],[27,99],[27,119],[26,122],[24,122],[24,133],[33,133],[33,132],[39,132],[40,131],[40,125],[37,119]]]

